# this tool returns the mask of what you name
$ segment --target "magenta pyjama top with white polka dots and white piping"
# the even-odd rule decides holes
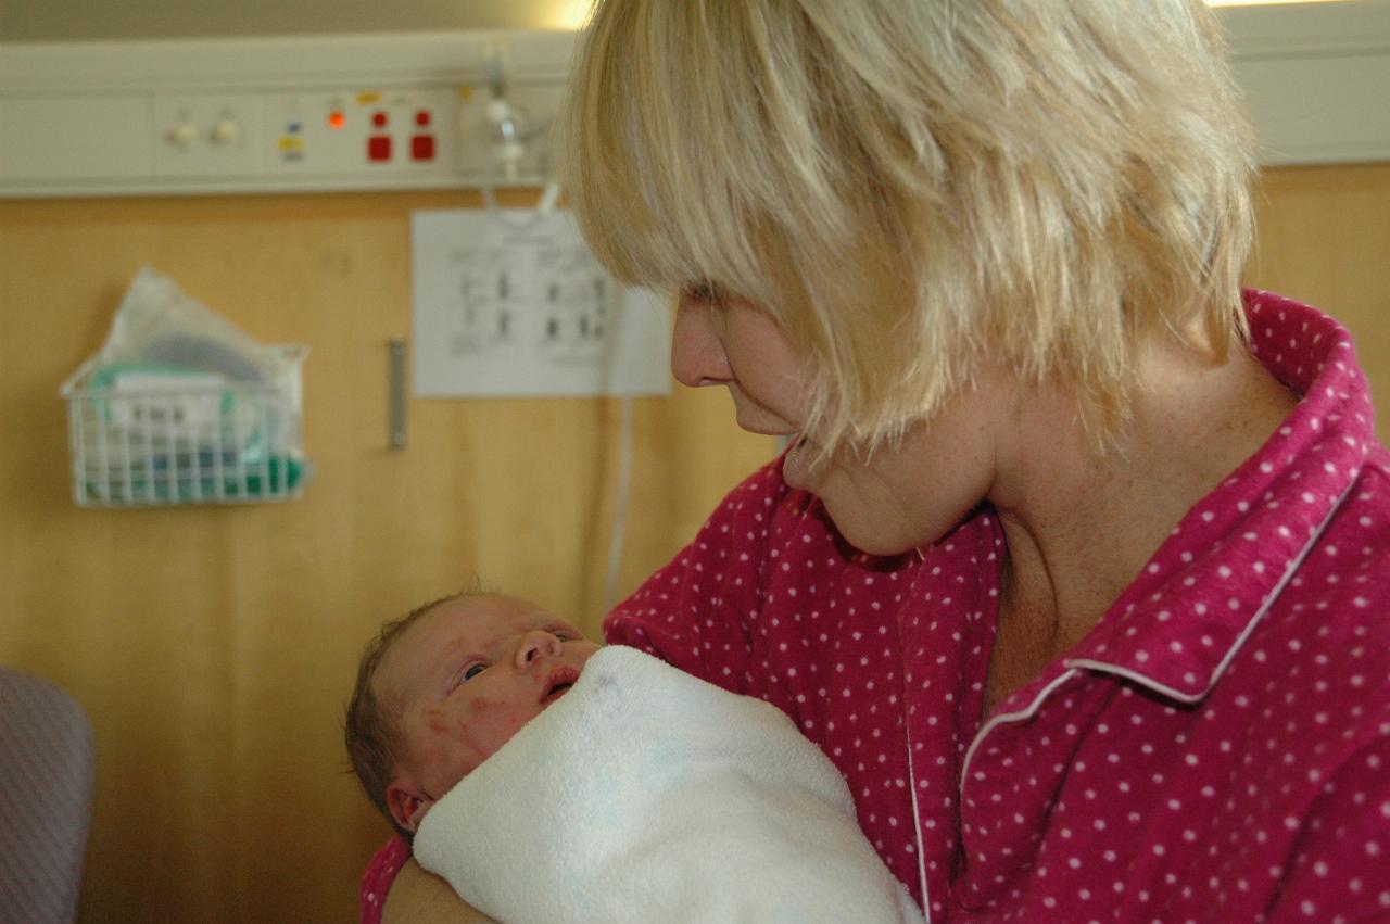
[[[987,721],[988,507],[867,557],[773,463],[609,641],[787,711],[931,921],[1390,920],[1390,456],[1346,331],[1247,311],[1302,400]]]

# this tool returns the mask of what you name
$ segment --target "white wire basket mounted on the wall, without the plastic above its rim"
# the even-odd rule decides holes
[[[64,382],[72,497],[81,507],[271,503],[300,496],[299,361],[291,382],[199,372],[110,375],[96,358]]]

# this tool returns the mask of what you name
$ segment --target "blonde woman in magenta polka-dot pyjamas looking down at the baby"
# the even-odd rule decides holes
[[[566,142],[677,378],[795,436],[610,642],[792,716],[933,921],[1390,914],[1390,461],[1238,289],[1198,0],[605,0]]]

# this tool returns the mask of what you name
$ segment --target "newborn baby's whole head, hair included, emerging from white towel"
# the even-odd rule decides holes
[[[346,739],[367,798],[410,839],[425,813],[569,692],[599,649],[527,600],[461,593],[382,627]]]

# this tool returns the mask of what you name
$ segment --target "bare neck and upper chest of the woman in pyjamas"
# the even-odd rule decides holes
[[[1009,563],[987,699],[1080,641],[1294,403],[1244,347],[1218,363],[1176,342],[1141,360],[1133,421],[1104,456],[1087,446],[1063,389],[1023,399],[990,493]]]

